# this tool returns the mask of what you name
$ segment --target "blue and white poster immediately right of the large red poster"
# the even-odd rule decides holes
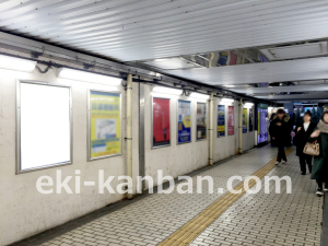
[[[178,143],[191,142],[191,103],[178,101]]]

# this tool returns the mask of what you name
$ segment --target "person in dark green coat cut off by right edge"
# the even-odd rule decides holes
[[[316,195],[323,196],[324,191],[328,191],[328,112],[323,114],[316,130],[311,134],[309,142],[317,141],[320,147],[320,153],[314,156],[312,168],[312,179],[316,179],[318,189]],[[325,188],[323,184],[325,183]]]

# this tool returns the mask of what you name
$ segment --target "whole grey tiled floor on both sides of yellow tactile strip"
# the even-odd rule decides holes
[[[212,176],[218,190],[226,187],[231,176],[246,177],[274,156],[276,149],[270,147],[255,149],[200,176]],[[289,160],[289,165],[274,168],[270,175],[290,175],[291,195],[266,195],[261,190],[243,196],[192,245],[319,245],[323,199],[314,197],[315,183],[309,176],[300,175],[294,153]],[[42,245],[157,245],[222,196],[209,194],[207,185],[202,191],[152,195]]]

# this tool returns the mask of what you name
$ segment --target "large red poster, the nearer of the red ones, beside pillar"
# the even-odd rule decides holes
[[[169,99],[153,97],[153,148],[169,145]]]

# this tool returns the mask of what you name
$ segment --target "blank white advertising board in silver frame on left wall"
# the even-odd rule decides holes
[[[71,163],[71,89],[24,81],[17,85],[17,171]]]

